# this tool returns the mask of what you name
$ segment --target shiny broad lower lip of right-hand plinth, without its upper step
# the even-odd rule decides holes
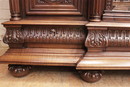
[[[130,57],[84,57],[77,70],[129,70]]]

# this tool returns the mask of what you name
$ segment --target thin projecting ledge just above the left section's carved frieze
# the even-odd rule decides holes
[[[48,20],[19,20],[7,21],[3,25],[86,25],[88,21],[48,21]]]

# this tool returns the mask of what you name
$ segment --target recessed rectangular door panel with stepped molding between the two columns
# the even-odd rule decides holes
[[[25,0],[25,4],[27,15],[83,15],[87,0]]]

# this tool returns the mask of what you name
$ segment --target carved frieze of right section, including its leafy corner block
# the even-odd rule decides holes
[[[87,47],[130,47],[130,31],[120,29],[89,30]]]

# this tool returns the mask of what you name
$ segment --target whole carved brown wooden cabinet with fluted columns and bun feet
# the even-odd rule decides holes
[[[130,69],[129,0],[9,0],[0,57],[13,76],[31,65],[73,66],[87,82]],[[121,6],[121,7],[120,7]]]

